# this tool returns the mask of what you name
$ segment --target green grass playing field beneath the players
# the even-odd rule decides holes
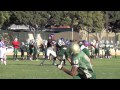
[[[40,66],[39,61],[20,60],[14,61],[8,58],[7,65],[0,65],[0,79],[72,79],[63,71],[52,65],[52,61],[46,60],[45,65]],[[108,59],[93,59],[93,68],[97,79],[120,79],[120,57]],[[67,62],[66,68],[71,66]]]

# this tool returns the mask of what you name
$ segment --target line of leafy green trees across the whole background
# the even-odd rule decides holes
[[[74,30],[119,31],[120,11],[0,11],[0,28],[11,24],[38,27],[71,26]]]

